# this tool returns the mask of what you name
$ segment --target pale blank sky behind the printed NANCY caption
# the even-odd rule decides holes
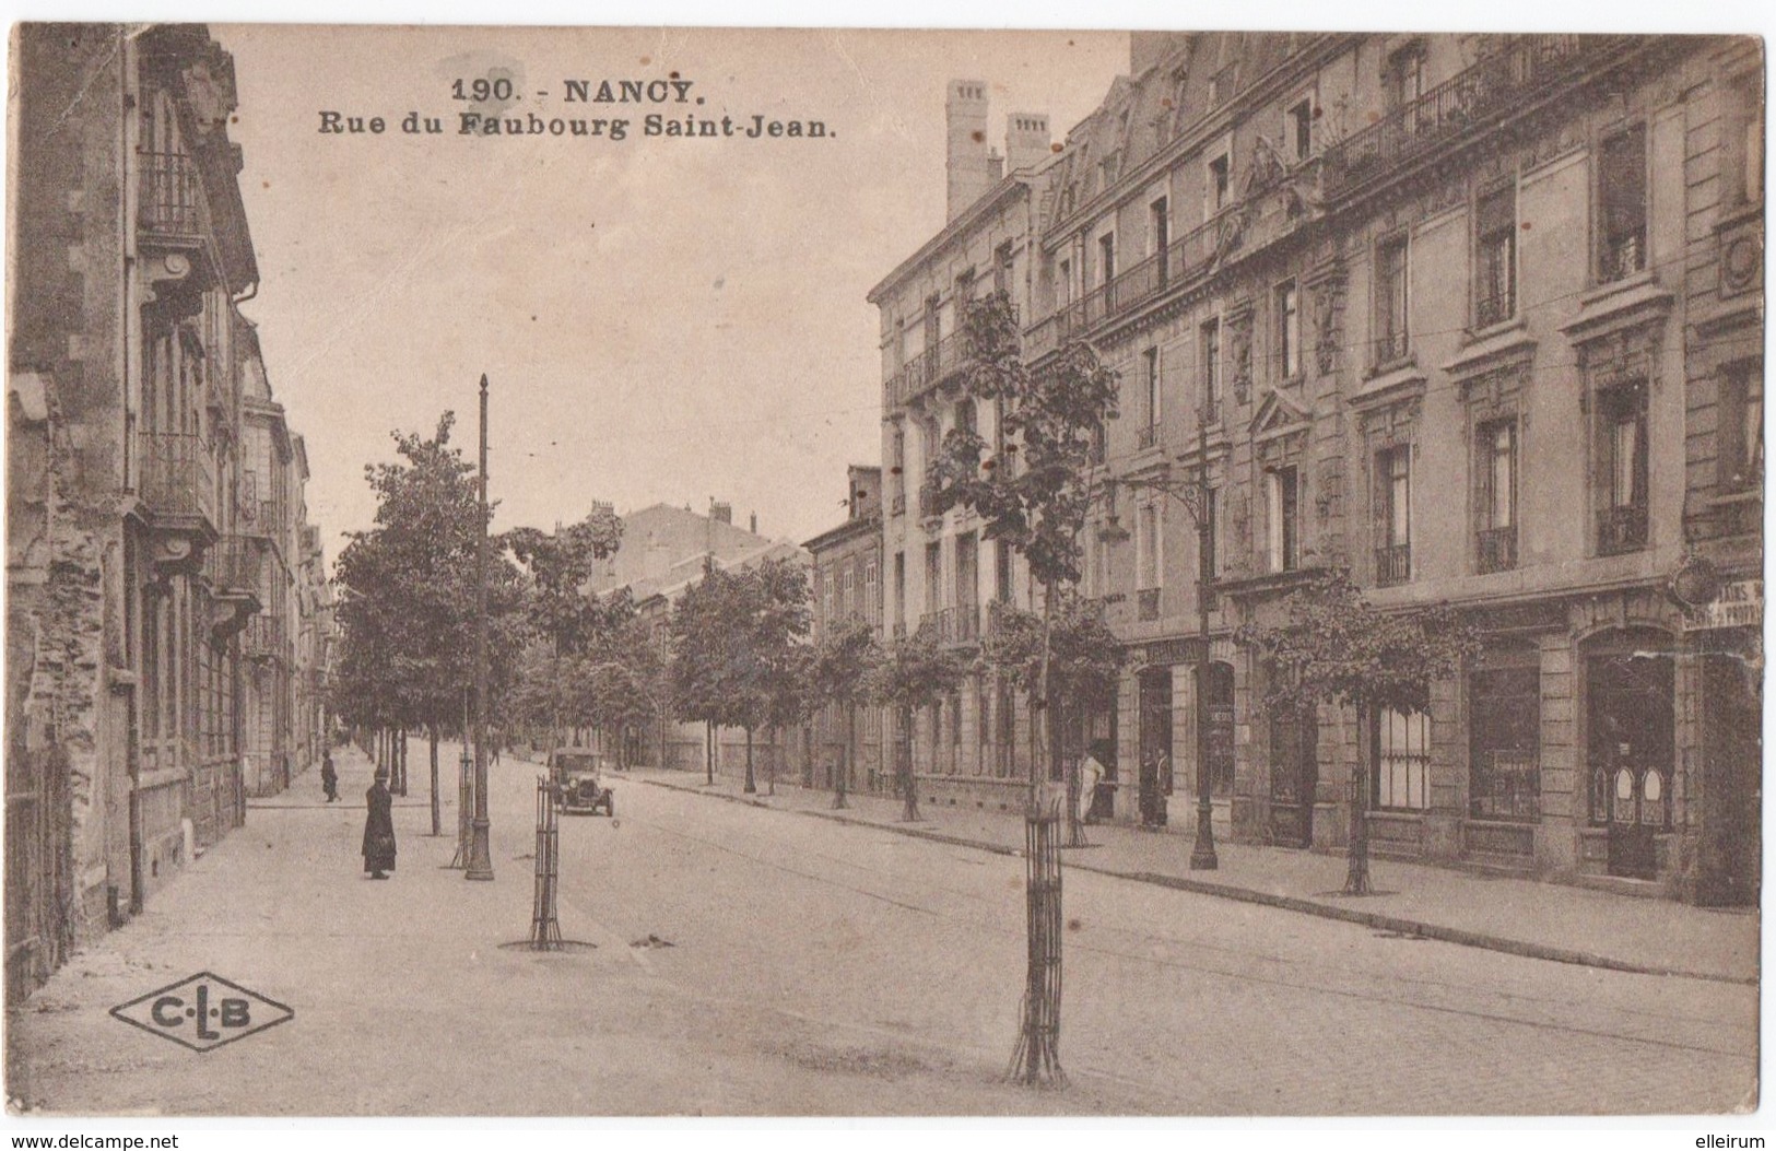
[[[1058,140],[1128,67],[1115,32],[341,28],[213,25],[234,55],[242,195],[274,394],[304,435],[337,556],[364,465],[490,380],[496,528],[595,499],[733,504],[773,538],[840,519],[879,460],[867,291],[945,220],[945,85],[989,83]],[[565,105],[567,80],[691,82],[668,105]],[[627,117],[629,137],[458,135],[453,83],[511,78],[504,115]],[[472,96],[472,87],[465,87]],[[323,112],[384,133],[323,133]],[[417,112],[440,135],[408,135]],[[819,119],[829,139],[646,139],[648,112]]]

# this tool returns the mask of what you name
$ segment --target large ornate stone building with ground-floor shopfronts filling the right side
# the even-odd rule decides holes
[[[1362,767],[1382,854],[1753,899],[1756,43],[1131,43],[1030,179],[1023,313],[1034,371],[1083,339],[1121,377],[1085,577],[1117,815],[1206,771],[1220,833],[1334,849]],[[1428,716],[1266,714],[1234,631],[1332,568],[1483,631]]]

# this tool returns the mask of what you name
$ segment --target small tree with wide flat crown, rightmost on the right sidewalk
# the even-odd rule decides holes
[[[1375,725],[1384,712],[1430,712],[1431,684],[1456,675],[1479,652],[1479,634],[1447,606],[1380,611],[1364,602],[1350,572],[1336,570],[1296,588],[1286,620],[1234,632],[1273,668],[1265,705],[1312,716],[1320,705],[1355,710],[1359,766],[1352,771],[1350,867],[1344,893],[1368,895],[1369,792]]]

